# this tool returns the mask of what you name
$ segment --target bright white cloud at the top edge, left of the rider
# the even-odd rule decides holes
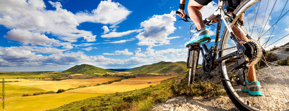
[[[93,22],[102,24],[116,25],[127,18],[131,11],[127,10],[123,5],[118,2],[101,1],[94,9],[89,12],[78,12],[75,18],[78,23]]]

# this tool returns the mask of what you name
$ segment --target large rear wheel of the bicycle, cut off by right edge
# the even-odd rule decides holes
[[[238,57],[219,63],[221,76],[226,79],[223,80],[223,86],[229,98],[239,110],[289,110],[289,67],[283,66],[286,63],[287,65],[289,64],[289,59],[281,61],[289,57],[289,52],[285,51],[284,48],[289,46],[289,43],[287,43],[289,42],[289,3],[287,2],[278,0],[244,0],[234,11],[237,18],[240,16],[244,17],[243,29],[247,34],[242,32],[241,34],[257,40],[262,48],[267,50],[266,55],[262,53],[259,62],[250,64],[251,67],[255,68],[263,96],[251,96],[241,91],[242,85],[228,81],[234,80],[233,75],[238,73],[238,70],[233,68],[235,62],[232,62],[238,60]],[[236,20],[231,23],[231,27],[236,27],[234,26],[235,23]],[[236,44],[234,40],[230,39],[229,32],[225,28],[222,34],[220,50],[234,46]],[[277,48],[275,46],[281,47]],[[237,49],[232,48],[220,51],[219,58],[234,51],[237,51]]]

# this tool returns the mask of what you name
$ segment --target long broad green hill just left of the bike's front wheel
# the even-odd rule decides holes
[[[144,65],[127,70],[131,74],[146,74],[146,73],[159,73],[159,74],[180,74],[187,70],[186,62],[158,62],[151,65]]]

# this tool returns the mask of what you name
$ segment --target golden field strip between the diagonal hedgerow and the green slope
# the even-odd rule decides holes
[[[114,82],[112,84],[105,84],[100,86],[91,86],[86,88],[77,88],[68,90],[66,92],[91,92],[91,93],[115,93],[126,92],[149,87],[150,85],[160,84],[161,81],[176,76],[159,76],[159,77],[145,77],[145,78],[129,78],[123,79],[121,82]],[[148,83],[151,82],[151,83]]]

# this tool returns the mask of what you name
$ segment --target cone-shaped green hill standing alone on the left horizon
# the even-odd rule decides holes
[[[73,66],[65,71],[62,71],[64,73],[70,72],[71,74],[94,74],[94,73],[103,73],[111,72],[110,70],[102,69],[96,66],[88,65],[88,64],[81,64]]]

